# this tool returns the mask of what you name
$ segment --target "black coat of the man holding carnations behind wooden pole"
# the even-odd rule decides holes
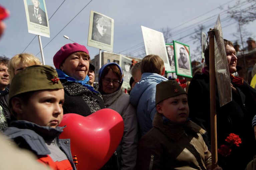
[[[246,164],[256,154],[252,128],[252,118],[256,114],[256,90],[245,81],[242,86],[234,85],[234,87],[237,92],[232,91],[232,101],[220,107],[216,85],[218,148],[225,144],[225,139],[230,133],[235,133],[242,139],[240,147],[233,149],[230,156],[218,155],[219,165],[223,169],[245,169]],[[211,149],[210,80],[208,75],[201,74],[193,77],[189,85],[188,104],[192,121],[208,132],[203,137]]]

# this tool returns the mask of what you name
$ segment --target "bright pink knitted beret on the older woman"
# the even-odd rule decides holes
[[[68,56],[79,51],[85,52],[89,55],[86,47],[78,43],[66,44],[61,47],[60,50],[53,57],[53,64],[55,68],[60,69],[60,65],[65,61],[66,58],[68,58]]]

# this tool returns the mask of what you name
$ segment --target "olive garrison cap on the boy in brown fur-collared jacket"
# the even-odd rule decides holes
[[[161,82],[156,88],[156,106],[162,100],[181,94],[187,94],[176,80]]]

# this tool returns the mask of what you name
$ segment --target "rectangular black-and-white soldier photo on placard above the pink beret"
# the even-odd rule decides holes
[[[110,45],[111,20],[109,18],[94,13],[91,39]]]

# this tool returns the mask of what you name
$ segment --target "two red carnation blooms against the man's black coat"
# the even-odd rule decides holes
[[[218,153],[223,156],[228,156],[231,154],[231,147],[239,147],[239,144],[242,143],[241,138],[239,135],[236,135],[234,133],[230,133],[229,136],[225,139],[225,141],[228,143],[228,145],[221,145],[218,149]]]

